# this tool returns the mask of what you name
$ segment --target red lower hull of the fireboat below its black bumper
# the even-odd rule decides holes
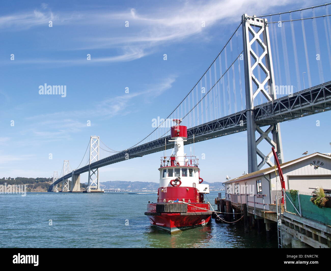
[[[145,212],[151,225],[170,234],[207,225],[210,222],[211,214],[211,211],[187,213]]]

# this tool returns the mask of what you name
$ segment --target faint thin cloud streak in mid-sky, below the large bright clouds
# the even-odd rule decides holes
[[[31,122],[31,127],[26,128],[24,134],[32,134],[38,140],[47,142],[68,139],[71,133],[79,132],[88,127],[86,120],[96,116],[112,118],[131,113],[132,110],[136,110],[137,99],[139,99],[138,103],[149,103],[170,89],[175,78],[176,76],[173,75],[160,80],[157,84],[146,85],[141,91],[104,99],[93,105],[93,110],[61,111],[26,117],[25,119]]]

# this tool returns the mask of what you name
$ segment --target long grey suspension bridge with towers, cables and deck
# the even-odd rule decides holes
[[[70,171],[64,160],[62,176],[54,171],[49,191],[57,192],[62,182],[63,192],[79,192],[84,172],[88,186],[99,191],[98,168],[173,148],[167,144],[169,119],[185,120],[186,144],[247,131],[248,173],[272,166],[271,148],[262,150],[261,142],[285,161],[280,123],[331,109],[330,5],[244,14],[197,83],[150,134],[121,151],[91,136],[86,165]],[[100,149],[114,154],[100,158]]]

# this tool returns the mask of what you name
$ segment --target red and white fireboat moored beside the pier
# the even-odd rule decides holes
[[[179,119],[173,121],[177,125],[171,127],[169,142],[174,149],[170,157],[161,157],[158,201],[148,203],[145,212],[152,225],[169,233],[207,225],[212,214],[205,203],[209,185],[200,177],[198,158],[184,153],[187,127]]]

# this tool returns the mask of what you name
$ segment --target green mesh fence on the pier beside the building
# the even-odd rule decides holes
[[[300,212],[298,196],[292,197],[289,191],[285,191],[286,194],[286,210],[288,212],[299,215],[295,210],[288,198],[291,199],[292,203],[295,205],[297,210]],[[317,207],[311,201],[311,194],[299,191],[300,205],[302,216],[310,220],[323,223],[325,225],[331,226],[331,208],[327,207]],[[331,199],[330,199],[331,200]]]

